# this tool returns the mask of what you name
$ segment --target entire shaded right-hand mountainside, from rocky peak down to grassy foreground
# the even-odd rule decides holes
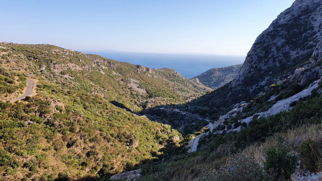
[[[142,167],[143,180],[321,180],[321,12],[321,0],[296,0],[232,82],[176,105],[214,129],[196,139],[196,153]]]

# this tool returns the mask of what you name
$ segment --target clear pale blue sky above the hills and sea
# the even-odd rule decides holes
[[[245,56],[294,0],[3,0],[1,42]]]

